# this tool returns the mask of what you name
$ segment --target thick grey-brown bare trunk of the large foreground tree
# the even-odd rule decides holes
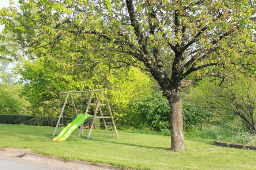
[[[174,152],[186,149],[184,144],[183,119],[182,119],[182,102],[180,88],[169,91],[167,96],[171,111],[171,150]]]

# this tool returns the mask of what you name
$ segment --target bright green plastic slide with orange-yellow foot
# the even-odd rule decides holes
[[[76,119],[69,123],[62,131],[61,133],[52,139],[52,141],[65,141],[69,135],[80,125],[84,122],[84,120],[88,117],[93,117],[92,115],[89,114],[82,114],[80,113]]]

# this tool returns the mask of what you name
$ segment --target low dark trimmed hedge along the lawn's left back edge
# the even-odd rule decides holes
[[[26,115],[4,115],[0,114],[0,123],[27,124],[35,126],[56,126],[59,117],[26,116]],[[63,118],[63,124],[71,123],[72,118]],[[60,119],[62,124],[62,119]]]

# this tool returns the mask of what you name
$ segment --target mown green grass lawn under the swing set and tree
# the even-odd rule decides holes
[[[116,138],[94,130],[87,140],[87,135],[77,138],[76,129],[66,141],[52,142],[53,131],[53,127],[0,124],[0,147],[32,148],[34,153],[131,169],[256,169],[256,151],[215,146],[212,139],[185,138],[188,149],[174,153],[168,150],[168,136],[119,131],[121,138]]]

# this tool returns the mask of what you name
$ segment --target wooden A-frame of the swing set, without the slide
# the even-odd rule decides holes
[[[99,98],[97,97],[97,94],[96,92],[101,92]],[[74,99],[73,99],[73,96],[74,94],[76,93],[91,93],[91,96],[90,96],[90,99],[89,99],[89,102],[87,104],[87,108],[86,108],[86,111],[84,114],[88,113],[89,111],[89,107],[90,106],[96,106],[95,108],[95,111],[94,111],[94,115],[93,115],[93,118],[92,118],[92,123],[91,123],[91,127],[90,127],[90,131],[89,131],[89,134],[87,136],[87,139],[90,139],[90,135],[91,135],[91,131],[93,130],[93,124],[94,124],[94,121],[95,119],[103,119],[103,123],[104,123],[104,126],[105,126],[105,129],[106,129],[106,132],[109,136],[109,133],[116,133],[116,137],[118,137],[118,133],[117,133],[117,129],[116,129],[116,124],[114,123],[114,118],[113,118],[113,115],[112,115],[112,111],[111,111],[111,108],[110,108],[110,105],[109,105],[109,101],[108,101],[108,97],[106,95],[106,92],[105,92],[105,89],[103,90],[88,90],[88,91],[71,91],[71,92],[60,92],[60,95],[61,94],[67,94],[66,98],[65,98],[65,101],[64,101],[64,104],[63,104],[63,107],[61,108],[61,112],[60,112],[60,115],[59,115],[59,119],[58,119],[58,122],[56,124],[56,127],[55,127],[55,130],[53,132],[53,135],[52,136],[55,136],[56,134],[56,131],[57,131],[57,128],[59,126],[59,123],[60,123],[60,119],[63,115],[63,111],[64,111],[64,108],[65,108],[65,105],[67,103],[67,100],[68,100],[68,97],[69,95],[71,96],[71,100],[72,100],[72,107],[74,108],[75,112],[76,112],[76,116],[78,116],[78,112],[77,112],[77,107],[75,106],[75,103],[74,103]],[[72,95],[71,95],[72,94]],[[97,100],[97,103],[91,103],[91,100],[93,99],[93,95],[95,96],[95,99]],[[105,96],[106,98],[106,103],[101,103],[101,99],[102,99],[102,96]],[[108,110],[109,110],[109,114],[110,116],[103,116],[103,113],[102,113],[102,110],[101,110],[101,106],[108,106]],[[101,116],[97,116],[97,112],[99,110],[99,113]],[[112,122],[106,122],[105,119],[111,119]],[[90,121],[89,121],[90,122]],[[89,122],[87,124],[89,124]],[[107,123],[112,123],[113,124],[113,127],[108,127],[107,126]],[[83,125],[84,125],[84,122],[80,125],[80,130],[79,130],[79,133],[78,133],[78,137],[80,137],[81,135],[81,132],[82,134],[83,133]],[[108,128],[113,128],[115,132],[110,132],[108,131]]]

